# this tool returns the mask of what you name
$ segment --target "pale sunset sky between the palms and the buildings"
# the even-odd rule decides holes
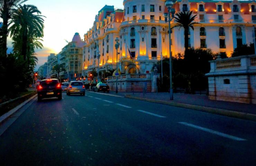
[[[115,8],[124,8],[123,0],[29,0],[24,4],[33,4],[45,16],[44,48],[36,50],[38,64],[36,69],[47,61],[50,53],[58,53],[71,41],[75,32],[83,35],[93,26],[96,14],[106,4]],[[8,52],[11,51],[11,39],[8,39]]]

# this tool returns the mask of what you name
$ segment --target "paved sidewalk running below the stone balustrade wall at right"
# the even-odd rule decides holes
[[[114,93],[114,92],[111,92]],[[170,101],[170,94],[167,92],[147,92],[145,96],[143,96],[143,92],[118,92],[118,95],[125,96],[130,95],[134,97],[140,98],[148,98],[155,100],[163,100]],[[229,101],[217,101],[217,100],[209,100],[206,95],[190,95],[190,94],[182,94],[175,93],[173,95],[174,102],[179,102],[183,104],[218,108],[218,109],[226,109],[230,111],[238,111],[241,113],[255,114],[256,115],[256,105],[255,104],[244,104],[239,102],[229,102]]]

